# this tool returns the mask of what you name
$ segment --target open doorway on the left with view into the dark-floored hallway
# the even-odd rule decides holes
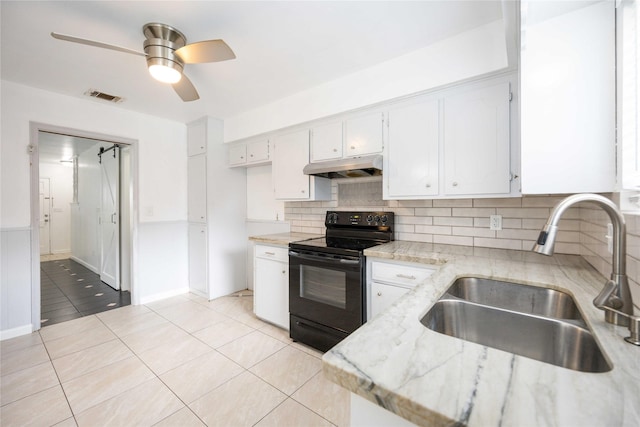
[[[31,142],[34,329],[135,301],[135,141],[32,123]]]

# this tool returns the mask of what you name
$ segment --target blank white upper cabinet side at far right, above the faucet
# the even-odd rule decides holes
[[[618,2],[565,3],[522,2],[523,194],[615,188]]]

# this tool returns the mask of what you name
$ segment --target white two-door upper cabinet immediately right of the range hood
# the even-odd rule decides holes
[[[383,198],[519,195],[511,120],[515,75],[435,91],[389,109]]]

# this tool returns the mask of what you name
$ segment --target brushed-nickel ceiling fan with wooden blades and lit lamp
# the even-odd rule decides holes
[[[51,36],[58,40],[145,56],[151,76],[163,83],[171,84],[185,102],[200,98],[193,83],[184,75],[185,64],[219,62],[236,57],[231,48],[220,39],[187,44],[184,34],[166,24],[156,22],[145,24],[142,27],[142,33],[146,37],[143,52],[55,32],[52,32]]]

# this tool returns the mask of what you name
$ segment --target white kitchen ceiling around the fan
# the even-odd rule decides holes
[[[501,18],[500,1],[5,1],[2,79],[187,122],[228,118]],[[222,38],[237,59],[185,67],[184,103],[142,57],[55,40],[52,31],[142,50],[162,22],[188,42]],[[89,99],[89,98],[87,98]],[[92,102],[105,102],[92,99]]]

